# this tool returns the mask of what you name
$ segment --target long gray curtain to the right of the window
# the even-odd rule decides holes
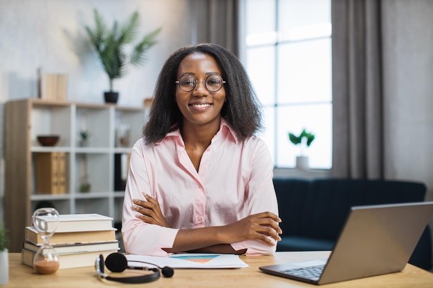
[[[332,0],[333,177],[383,178],[380,0]]]

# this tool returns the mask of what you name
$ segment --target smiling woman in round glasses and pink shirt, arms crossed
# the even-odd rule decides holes
[[[273,164],[245,70],[221,46],[165,62],[143,137],[131,151],[127,253],[270,254],[279,234]]]

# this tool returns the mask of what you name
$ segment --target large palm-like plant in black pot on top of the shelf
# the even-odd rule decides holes
[[[139,66],[145,63],[146,52],[156,44],[156,36],[161,28],[145,35],[138,44],[133,46],[131,55],[128,57],[124,51],[125,45],[131,44],[137,35],[140,20],[138,12],[133,12],[123,26],[114,21],[111,29],[107,27],[98,10],[93,10],[93,16],[95,29],[86,26],[86,32],[109,77],[110,90],[104,93],[105,102],[116,103],[118,93],[113,91],[113,80],[125,75],[130,64]]]

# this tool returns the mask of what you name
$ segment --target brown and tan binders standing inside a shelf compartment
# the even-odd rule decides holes
[[[66,153],[35,153],[36,193],[66,193]]]

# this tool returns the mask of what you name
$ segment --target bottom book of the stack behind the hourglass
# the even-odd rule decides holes
[[[59,269],[71,269],[79,267],[89,267],[95,265],[95,259],[102,254],[104,258],[107,258],[111,253],[116,253],[118,250],[106,250],[106,251],[93,251],[86,253],[71,253],[71,254],[59,254]],[[21,263],[30,267],[33,267],[33,258],[35,258],[36,252],[29,251],[26,249],[21,250]]]

